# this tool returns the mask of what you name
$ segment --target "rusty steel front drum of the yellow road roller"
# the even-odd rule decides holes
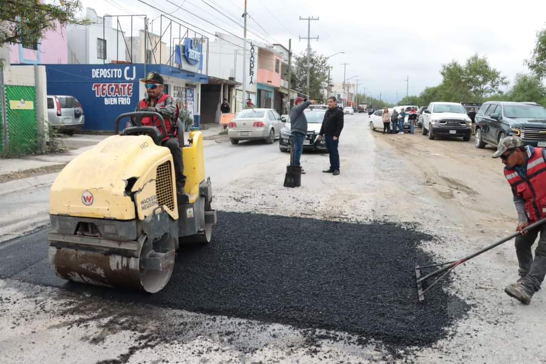
[[[175,261],[174,239],[147,238],[139,255],[105,254],[99,249],[50,244],[49,262],[57,276],[70,281],[156,293],[169,282]]]

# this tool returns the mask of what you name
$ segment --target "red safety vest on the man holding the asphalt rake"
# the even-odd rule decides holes
[[[527,161],[527,178],[505,168],[508,183],[515,194],[525,200],[525,212],[531,223],[546,217],[546,161],[542,154],[543,149],[535,148]]]

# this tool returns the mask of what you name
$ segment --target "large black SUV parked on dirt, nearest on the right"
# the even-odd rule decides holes
[[[476,114],[476,148],[520,136],[527,145],[546,147],[546,109],[537,103],[490,101]]]

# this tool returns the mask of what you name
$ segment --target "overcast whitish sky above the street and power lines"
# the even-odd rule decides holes
[[[242,28],[225,14],[240,19],[244,0],[169,0],[218,27],[165,0],[145,1],[211,33],[223,27],[242,37]],[[396,93],[399,99],[405,96],[406,76],[410,95],[419,94],[423,88],[440,83],[438,71],[442,64],[452,59],[464,63],[474,53],[488,57],[492,67],[512,81],[515,74],[527,70],[523,61],[533,49],[536,32],[546,27],[546,1],[539,0],[460,0],[456,5],[420,0],[247,1],[252,17],[249,24],[254,31],[271,43],[286,46],[292,38],[296,53],[307,46],[306,40],[298,39],[307,37],[307,21],[299,17],[319,17],[320,20],[311,22],[311,37],[319,36],[318,42],[311,40],[311,47],[325,56],[345,52],[330,58],[334,81],[343,81],[340,63],[350,63],[346,77],[359,76],[359,91],[366,87],[367,94],[378,97],[381,93],[383,99],[392,103]],[[159,15],[136,0],[82,0],[82,4],[84,8],[94,8],[99,16],[147,14],[153,19]]]

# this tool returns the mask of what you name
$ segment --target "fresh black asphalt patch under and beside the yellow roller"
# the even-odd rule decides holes
[[[182,247],[169,284],[154,295],[55,277],[47,232],[1,245],[0,277],[107,300],[347,332],[391,350],[446,338],[468,311],[447,292],[449,280],[418,302],[414,267],[434,264],[419,243],[433,237],[411,226],[219,212],[212,242]]]

